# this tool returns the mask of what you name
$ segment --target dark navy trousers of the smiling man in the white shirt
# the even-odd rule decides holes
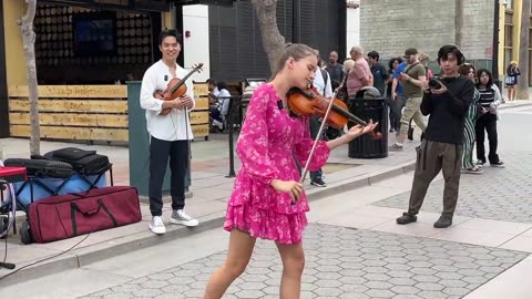
[[[152,216],[163,213],[163,181],[168,164],[172,172],[170,194],[172,209],[185,207],[185,179],[188,167],[188,141],[162,141],[151,136],[150,142],[150,212]]]

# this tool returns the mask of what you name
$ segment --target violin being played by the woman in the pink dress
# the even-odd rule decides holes
[[[332,101],[332,103],[330,103],[330,101]],[[305,91],[298,87],[291,89],[287,93],[287,102],[290,111],[301,116],[316,115],[325,117],[328,106],[330,105],[330,112],[325,121],[328,125],[338,130],[341,130],[349,121],[361,126],[368,125],[365,121],[349,113],[344,101],[336,97],[328,100],[321,96],[315,87]],[[369,134],[371,134],[374,140],[382,138],[382,134],[379,132],[371,131]]]

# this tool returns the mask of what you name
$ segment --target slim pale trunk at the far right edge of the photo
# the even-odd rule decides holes
[[[518,82],[518,94],[515,99],[529,100],[529,27],[530,27],[530,3],[531,0],[523,0],[521,8],[521,34],[519,48],[519,70],[521,72]]]

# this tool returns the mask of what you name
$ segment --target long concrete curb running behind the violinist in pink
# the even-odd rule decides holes
[[[307,192],[308,200],[314,202],[338,193],[370,186],[383,179],[388,179],[411,172],[413,171],[415,165],[416,161],[412,159],[403,164],[392,166],[391,168],[386,171],[366,174],[357,176],[352,179],[344,179],[334,184],[329,184],[327,188],[313,188]],[[224,220],[225,213],[214,213],[201,217],[201,225],[194,228],[187,228],[182,226],[167,226],[167,231],[165,235],[154,235],[146,229],[145,231],[124,236],[123,238],[119,238],[113,241],[104,241],[80,249],[73,249],[69,252],[62,254],[59,257],[51,258],[50,260],[39,262],[34,266],[29,266],[28,268],[24,268],[19,272],[4,279],[0,278],[0,288],[2,286],[37,279],[64,270],[78,269],[86,265],[104,260],[106,258],[115,257],[137,249],[147,248],[164,241],[174,240],[175,238],[191,236],[193,234],[202,233],[214,228],[221,228],[224,224]],[[20,269],[28,264],[31,262],[18,264],[17,268]]]

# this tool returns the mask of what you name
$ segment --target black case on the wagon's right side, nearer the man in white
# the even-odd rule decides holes
[[[96,154],[95,151],[85,151],[76,147],[64,147],[44,154],[45,157],[72,165],[74,171],[83,175],[100,175],[112,166],[109,157]]]

